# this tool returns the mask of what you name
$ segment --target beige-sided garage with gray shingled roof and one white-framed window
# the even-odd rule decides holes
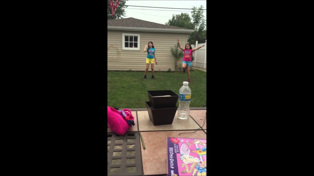
[[[175,60],[170,49],[177,39],[184,47],[188,35],[194,31],[136,18],[108,20],[107,29],[107,70],[132,71],[145,70],[147,52],[143,50],[149,41],[153,42],[156,49],[158,65],[154,65],[154,71],[175,70]]]

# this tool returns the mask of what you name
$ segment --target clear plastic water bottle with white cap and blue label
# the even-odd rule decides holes
[[[179,90],[179,119],[187,119],[190,116],[191,89],[188,85],[189,82],[184,81]]]

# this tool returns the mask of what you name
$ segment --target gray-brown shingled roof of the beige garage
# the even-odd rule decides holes
[[[187,29],[175,26],[167,26],[149,21],[144,21],[136,18],[122,18],[108,20],[108,26],[114,27],[129,27],[129,28],[159,28],[159,29]]]

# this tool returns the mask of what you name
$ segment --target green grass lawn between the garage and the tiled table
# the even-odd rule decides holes
[[[190,73],[190,107],[203,107],[206,104],[206,72],[194,69]],[[147,79],[144,79],[144,71],[108,71],[108,106],[146,108],[145,101],[149,101],[147,91],[171,90],[179,95],[183,81],[187,81],[187,72],[182,71],[155,72],[155,79],[151,79],[151,75],[149,71]],[[176,106],[179,106],[178,101]]]

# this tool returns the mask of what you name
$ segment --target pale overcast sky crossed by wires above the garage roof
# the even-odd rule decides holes
[[[196,8],[201,7],[203,5],[203,9],[206,8],[206,0],[186,0],[186,1],[145,1],[145,0],[128,0],[126,1],[125,5],[132,5],[132,6],[146,6],[146,7],[165,7],[165,8],[146,8],[146,7],[127,7],[125,8],[126,16],[123,18],[137,18],[145,21],[150,21],[154,23],[165,24],[172,18],[173,14],[181,14],[181,13],[188,13],[190,18],[192,19],[191,12],[185,11],[192,11],[188,9],[169,9],[169,8]],[[168,9],[167,9],[168,8]],[[149,10],[140,10],[140,9],[149,9]],[[162,10],[162,11],[161,11]],[[164,11],[164,10],[171,10],[171,11]],[[206,20],[206,10],[204,10],[204,16]]]

